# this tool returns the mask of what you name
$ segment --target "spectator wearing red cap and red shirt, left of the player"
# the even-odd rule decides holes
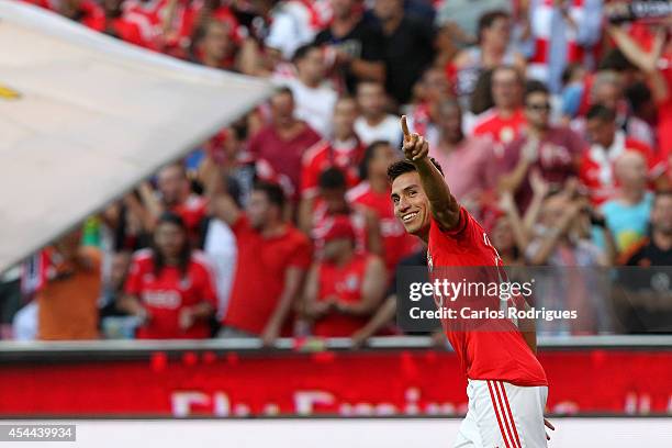
[[[314,335],[350,337],[381,303],[385,267],[379,257],[355,250],[355,229],[347,216],[336,217],[324,238],[323,258],[306,280],[305,311]]]

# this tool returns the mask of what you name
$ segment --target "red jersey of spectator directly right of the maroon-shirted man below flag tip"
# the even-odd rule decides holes
[[[341,169],[346,175],[348,187],[355,187],[359,182],[357,166],[363,152],[365,147],[357,138],[341,144],[317,142],[301,160],[301,197],[314,198],[317,194],[320,175],[332,167]]]

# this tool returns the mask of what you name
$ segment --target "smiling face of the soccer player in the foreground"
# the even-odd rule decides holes
[[[429,201],[417,172],[406,172],[392,182],[394,215],[407,233],[421,235],[429,226]]]

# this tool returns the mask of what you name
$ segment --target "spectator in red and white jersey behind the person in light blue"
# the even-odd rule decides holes
[[[641,142],[625,136],[616,127],[616,112],[601,104],[593,105],[586,115],[586,131],[592,145],[583,155],[580,167],[581,181],[589,189],[591,201],[602,204],[616,193],[614,161],[626,150],[636,150],[647,160],[649,180],[656,180],[664,171],[664,163]]]

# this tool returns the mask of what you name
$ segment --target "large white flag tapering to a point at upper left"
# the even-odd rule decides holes
[[[269,92],[0,0],[0,272]]]

